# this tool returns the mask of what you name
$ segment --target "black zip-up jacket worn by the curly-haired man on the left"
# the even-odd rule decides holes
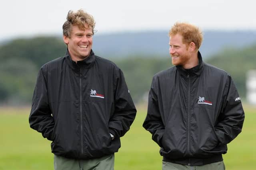
[[[120,68],[92,51],[76,64],[67,51],[40,69],[29,123],[54,154],[89,159],[117,152],[135,115]]]

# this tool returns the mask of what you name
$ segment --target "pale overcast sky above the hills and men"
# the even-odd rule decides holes
[[[97,34],[170,29],[176,21],[203,30],[256,30],[254,0],[4,0],[0,40],[62,33],[69,10],[86,10]]]

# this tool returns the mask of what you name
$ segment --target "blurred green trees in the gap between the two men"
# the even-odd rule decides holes
[[[134,102],[145,102],[154,74],[171,67],[170,57],[132,56],[122,60],[113,59],[122,69]]]

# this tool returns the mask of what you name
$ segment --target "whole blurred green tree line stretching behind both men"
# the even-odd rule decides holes
[[[0,103],[30,104],[40,67],[65,54],[66,45],[59,37],[14,39],[0,46]],[[97,51],[94,51],[97,55]],[[100,56],[104,57],[104,56]],[[112,58],[124,72],[136,103],[147,99],[152,76],[172,66],[170,57],[132,55]],[[245,49],[224,49],[208,58],[207,63],[228,71],[240,96],[245,96],[246,72],[256,69],[256,44]]]

